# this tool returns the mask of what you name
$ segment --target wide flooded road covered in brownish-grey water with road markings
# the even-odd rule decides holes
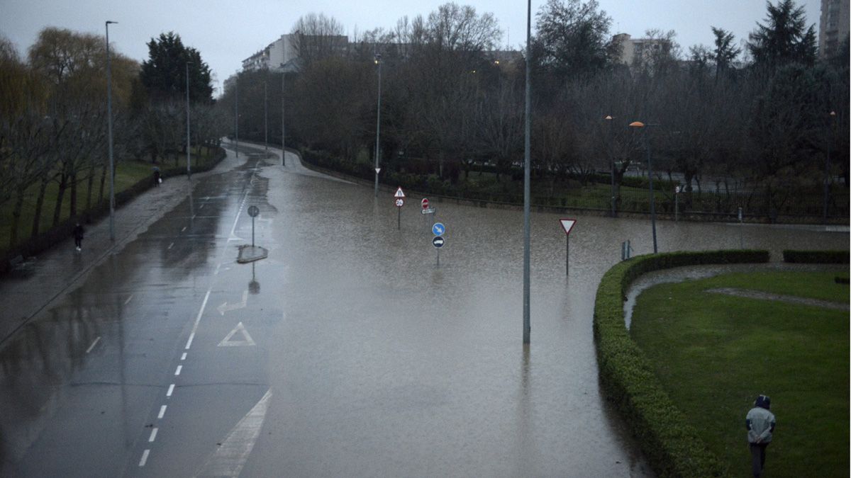
[[[4,476],[651,475],[597,383],[592,311],[647,220],[392,191],[240,155],[0,350]],[[268,259],[240,265],[254,240]],[[848,233],[657,224],[660,251],[848,248]],[[740,238],[741,234],[741,238]]]

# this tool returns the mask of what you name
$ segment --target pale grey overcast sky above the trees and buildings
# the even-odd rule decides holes
[[[766,16],[762,0],[598,0],[612,18],[612,32],[640,37],[648,28],[677,31],[683,50],[696,43],[711,45],[710,26],[733,31],[746,39],[757,21]],[[301,15],[323,13],[334,17],[347,34],[390,29],[403,16],[426,17],[444,0],[0,0],[0,34],[8,37],[21,54],[45,26],[104,34],[106,20],[110,40],[117,51],[135,60],[146,60],[146,43],[160,33],[174,31],[183,43],[197,48],[220,82],[236,72],[242,60],[288,33]],[[458,1],[477,13],[494,14],[503,30],[502,43],[519,48],[525,43],[526,2]],[[532,2],[533,15],[545,0]],[[774,0],[777,3],[777,0]],[[819,28],[819,0],[798,0],[804,5],[808,24]],[[534,16],[532,20],[534,29]],[[214,83],[220,88],[221,83]]]

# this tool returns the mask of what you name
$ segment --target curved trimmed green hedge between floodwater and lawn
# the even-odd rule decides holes
[[[694,430],[694,419],[679,410],[653,372],[647,356],[630,338],[624,322],[625,293],[638,276],[683,265],[768,262],[768,251],[732,250],[637,256],[606,272],[594,304],[594,341],[600,383],[636,436],[660,476],[725,476],[728,470]]]

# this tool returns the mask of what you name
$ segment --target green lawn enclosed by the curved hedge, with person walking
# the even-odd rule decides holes
[[[848,311],[705,293],[736,287],[848,304],[848,272],[758,272],[651,287],[631,336],[730,475],[750,474],[745,414],[777,416],[768,476],[848,476]]]

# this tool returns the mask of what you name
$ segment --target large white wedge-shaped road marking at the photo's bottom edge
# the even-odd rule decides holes
[[[237,426],[227,434],[225,441],[203,464],[201,471],[195,476],[230,476],[236,478],[243,471],[248,455],[251,454],[260,428],[269,410],[271,389],[254,405]]]

